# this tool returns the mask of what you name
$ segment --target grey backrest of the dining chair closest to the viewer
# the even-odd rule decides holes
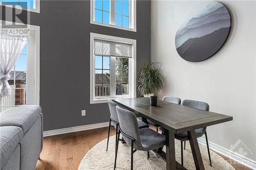
[[[139,125],[138,125],[135,114],[129,110],[122,109],[119,106],[116,106],[116,111],[117,111],[117,115],[119,119],[119,127],[121,131],[124,134],[135,139],[134,141],[135,149],[143,148],[140,141]],[[124,135],[122,135],[122,137],[127,144],[131,145],[131,141],[132,141],[131,139],[125,137]]]

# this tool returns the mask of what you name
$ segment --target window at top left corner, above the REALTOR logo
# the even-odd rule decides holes
[[[19,5],[28,11],[39,13],[39,0],[0,0],[0,5]]]

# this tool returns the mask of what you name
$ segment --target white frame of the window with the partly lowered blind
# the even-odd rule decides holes
[[[94,57],[94,39],[102,39],[108,41],[116,41],[122,43],[132,44],[132,58],[129,59],[129,95],[116,95],[116,87],[111,86],[111,96],[102,96],[100,98],[95,97],[95,57]],[[115,82],[115,58],[111,57],[110,59],[110,74],[111,82]],[[131,82],[131,83],[130,83]],[[115,84],[115,83],[114,83]],[[110,84],[111,85],[111,84]],[[90,34],[90,103],[106,103],[109,99],[116,98],[136,98],[136,40],[114,37],[109,35],[102,35],[91,33]]]

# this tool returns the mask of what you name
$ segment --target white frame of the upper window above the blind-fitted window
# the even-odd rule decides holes
[[[121,30],[127,30],[127,31],[134,31],[136,32],[136,1],[137,0],[129,0],[129,28],[119,27],[116,26],[115,22],[115,5],[116,0],[111,0],[110,2],[110,24],[105,23],[99,23],[95,21],[95,0],[91,0],[91,16],[90,20],[92,24],[99,25],[99,26],[105,26],[105,27],[111,27]]]

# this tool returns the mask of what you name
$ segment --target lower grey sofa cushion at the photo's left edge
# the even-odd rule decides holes
[[[0,127],[0,134],[0,164],[2,169],[20,140],[22,140],[23,130],[15,126],[3,126]]]

